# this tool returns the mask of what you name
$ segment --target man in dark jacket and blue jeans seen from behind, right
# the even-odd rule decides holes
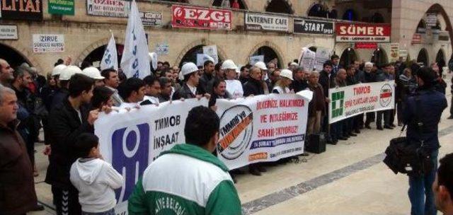
[[[447,108],[445,95],[435,91],[433,83],[434,71],[423,67],[416,77],[418,91],[409,97],[403,112],[403,122],[408,125],[406,136],[411,144],[421,144],[420,154],[430,155],[432,169],[423,175],[409,176],[409,200],[412,215],[436,214],[432,182],[437,170],[437,154],[439,153],[439,136],[437,125],[442,111]],[[426,198],[425,198],[426,196]]]

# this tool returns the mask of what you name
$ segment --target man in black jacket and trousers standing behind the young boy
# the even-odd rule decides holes
[[[71,185],[69,169],[76,161],[74,140],[84,132],[93,133],[98,110],[88,112],[84,105],[93,96],[93,79],[75,74],[69,80],[69,96],[49,116],[50,163],[46,182],[52,185],[57,214],[81,214],[79,191]]]

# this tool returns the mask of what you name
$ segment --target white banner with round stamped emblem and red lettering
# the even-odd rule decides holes
[[[311,91],[217,100],[217,157],[229,169],[304,152]]]

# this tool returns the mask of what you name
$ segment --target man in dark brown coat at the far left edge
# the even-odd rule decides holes
[[[16,215],[38,207],[33,167],[18,124],[16,93],[0,85],[0,214]]]

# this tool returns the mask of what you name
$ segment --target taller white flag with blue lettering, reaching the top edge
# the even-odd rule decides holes
[[[147,37],[135,0],[132,1],[125,35],[125,50],[122,52],[121,69],[128,78],[143,79],[151,73],[149,68]]]

